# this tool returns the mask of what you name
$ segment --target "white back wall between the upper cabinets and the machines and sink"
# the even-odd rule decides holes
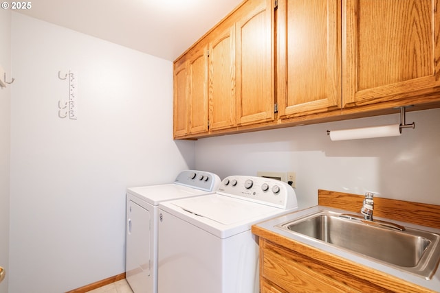
[[[330,141],[327,130],[397,124],[386,115],[199,139],[196,168],[221,178],[257,171],[295,171],[300,207],[318,203],[318,189],[440,204],[440,109],[406,113],[399,137]]]

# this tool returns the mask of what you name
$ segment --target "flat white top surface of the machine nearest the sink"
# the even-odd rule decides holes
[[[219,194],[197,196],[172,202],[177,207],[210,219],[223,225],[234,225],[250,220],[264,218],[267,214],[282,212],[283,209],[270,207],[265,204],[239,200]]]

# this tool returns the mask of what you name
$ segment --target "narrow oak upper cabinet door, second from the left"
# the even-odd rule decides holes
[[[208,47],[195,47],[189,54],[189,127],[192,134],[208,131]]]

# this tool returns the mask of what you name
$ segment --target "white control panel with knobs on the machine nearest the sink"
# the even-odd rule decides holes
[[[218,192],[280,209],[298,207],[294,189],[287,183],[272,178],[228,176],[223,179]]]

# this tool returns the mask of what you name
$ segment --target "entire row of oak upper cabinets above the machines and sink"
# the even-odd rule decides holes
[[[243,1],[175,61],[174,137],[439,107],[439,3]]]

